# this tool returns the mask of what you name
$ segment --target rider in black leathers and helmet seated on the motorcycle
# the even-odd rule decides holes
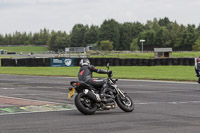
[[[80,70],[78,73],[78,79],[80,81],[84,81],[87,84],[90,84],[94,87],[97,88],[102,88],[101,89],[101,96],[103,97],[103,93],[105,93],[107,85],[106,85],[106,80],[104,79],[93,79],[92,73],[101,73],[101,74],[112,74],[112,71],[106,71],[103,69],[97,69],[93,65],[90,65],[90,61],[87,58],[83,58],[80,61]]]

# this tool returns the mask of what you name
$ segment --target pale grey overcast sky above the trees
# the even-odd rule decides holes
[[[168,17],[179,24],[200,24],[200,0],[0,0],[0,34],[69,33],[77,24],[101,25],[105,19],[146,23]]]

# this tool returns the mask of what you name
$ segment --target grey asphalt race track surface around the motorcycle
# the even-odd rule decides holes
[[[74,78],[0,75],[0,95],[72,104],[66,99]],[[135,110],[119,108],[85,116],[77,110],[0,115],[0,133],[199,133],[200,85],[120,80]],[[3,106],[3,105],[2,105]]]

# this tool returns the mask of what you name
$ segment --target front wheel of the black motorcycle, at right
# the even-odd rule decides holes
[[[125,96],[126,96],[125,98],[122,98],[122,96],[120,95],[116,96],[115,100],[117,102],[117,105],[124,112],[132,112],[134,110],[134,103],[127,94],[125,94]]]

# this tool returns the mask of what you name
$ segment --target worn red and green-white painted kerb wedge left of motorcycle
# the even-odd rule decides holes
[[[9,107],[1,107],[0,115],[33,113],[33,112],[49,112],[64,111],[75,109],[72,104],[63,104],[57,102],[31,100],[24,98],[8,97],[0,95],[0,104],[12,105]]]

